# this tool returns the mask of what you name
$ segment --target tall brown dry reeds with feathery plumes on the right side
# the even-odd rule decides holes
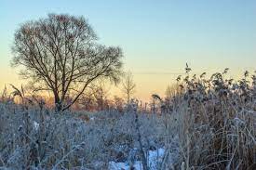
[[[246,72],[238,82],[224,80],[226,72],[179,82],[182,93],[172,98],[179,102],[169,123],[179,127],[177,167],[183,162],[185,169],[256,168],[256,79]]]

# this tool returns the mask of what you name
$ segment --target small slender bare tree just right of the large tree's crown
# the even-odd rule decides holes
[[[122,84],[122,91],[126,95],[127,102],[129,102],[131,95],[135,93],[135,83],[133,82],[133,76],[131,72],[128,72]]]

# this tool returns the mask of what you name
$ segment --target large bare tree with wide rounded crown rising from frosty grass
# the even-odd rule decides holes
[[[35,91],[52,92],[57,111],[69,109],[96,80],[117,83],[122,69],[122,50],[98,45],[83,17],[49,14],[28,21],[15,33],[12,51],[12,65],[21,66]]]

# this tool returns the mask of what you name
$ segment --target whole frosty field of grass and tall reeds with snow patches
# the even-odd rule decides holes
[[[0,103],[1,169],[255,169],[256,77],[178,77],[154,109],[53,111]]]

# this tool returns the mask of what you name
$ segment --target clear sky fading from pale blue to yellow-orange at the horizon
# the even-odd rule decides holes
[[[197,74],[256,70],[255,0],[0,0],[0,89],[24,84],[10,67],[15,31],[48,13],[84,16],[101,44],[121,46],[137,98],[164,95],[186,62]]]

